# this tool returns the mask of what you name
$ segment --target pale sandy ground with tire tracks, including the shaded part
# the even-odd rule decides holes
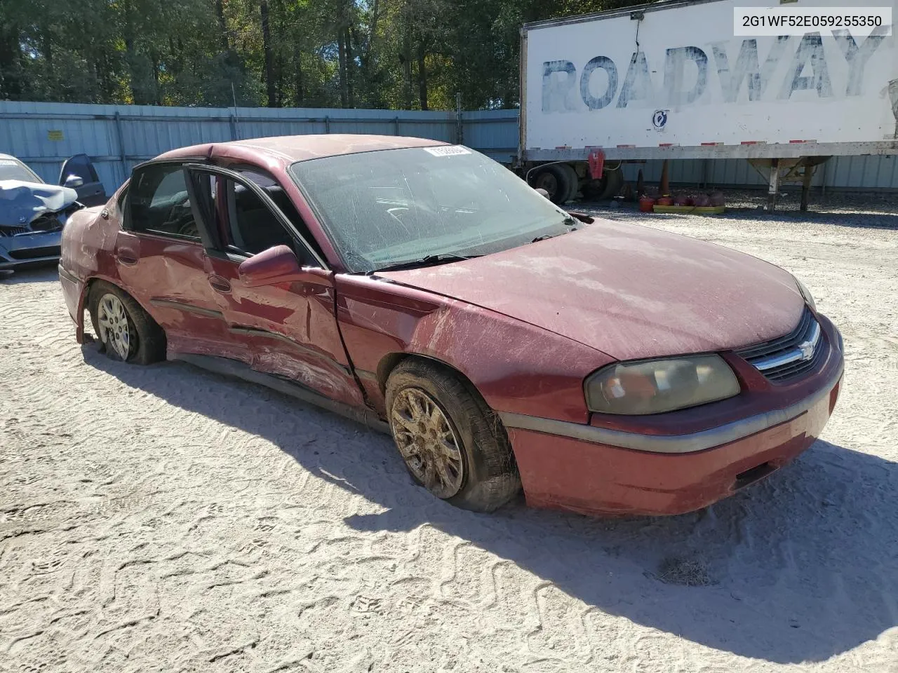
[[[53,270],[0,280],[0,670],[898,672],[898,211],[874,210],[650,218],[797,273],[848,358],[821,441],[670,519],[453,509],[389,439],[111,363]]]

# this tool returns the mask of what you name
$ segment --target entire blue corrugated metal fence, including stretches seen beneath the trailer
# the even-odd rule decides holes
[[[411,135],[456,142],[454,112],[388,109],[157,108],[0,101],[0,153],[18,156],[41,178],[56,183],[62,162],[88,154],[108,192],[139,162],[175,147],[270,135],[364,133]],[[514,109],[462,113],[462,142],[499,162],[517,153]],[[661,162],[625,164],[635,180],[661,179]],[[818,170],[814,184],[827,188],[898,190],[898,158],[836,157]],[[766,181],[748,162],[718,159],[671,164],[674,184],[762,187]]]

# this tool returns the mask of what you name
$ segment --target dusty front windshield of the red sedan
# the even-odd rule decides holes
[[[351,272],[486,255],[570,229],[567,213],[461,145],[323,157],[290,172]]]

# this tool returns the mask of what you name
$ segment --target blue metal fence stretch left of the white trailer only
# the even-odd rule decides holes
[[[459,123],[461,122],[461,123]],[[158,108],[0,101],[0,153],[13,154],[56,182],[72,154],[92,158],[107,191],[139,162],[190,144],[267,135],[365,133],[462,142],[509,162],[517,112],[462,113],[384,109]]]

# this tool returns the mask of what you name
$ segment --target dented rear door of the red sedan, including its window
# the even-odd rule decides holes
[[[189,185],[189,175],[180,162],[134,171],[121,203],[119,277],[162,325],[170,351],[240,358],[244,351],[234,344],[207,279],[212,243],[199,213],[213,203],[214,181]]]

